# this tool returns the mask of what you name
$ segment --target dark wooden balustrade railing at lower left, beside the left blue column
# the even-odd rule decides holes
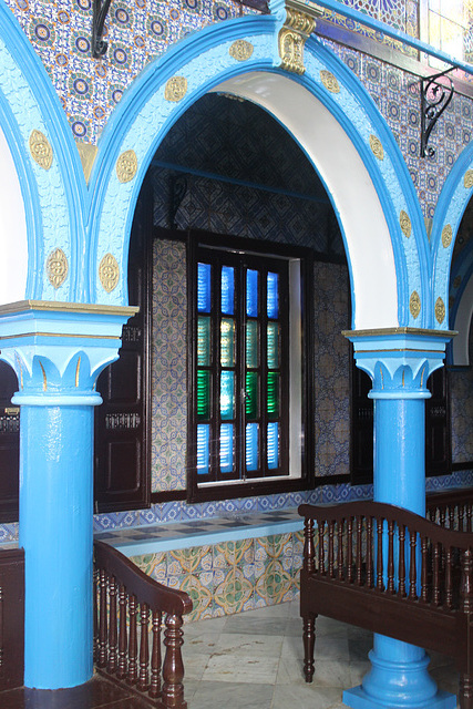
[[[145,695],[160,709],[185,709],[181,646],[183,616],[192,610],[188,595],[163,586],[113,547],[94,542],[94,599],[97,671]]]

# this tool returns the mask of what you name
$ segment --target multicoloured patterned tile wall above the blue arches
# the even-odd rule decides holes
[[[76,140],[96,143],[126,86],[171,44],[213,22],[237,17],[230,0],[117,1],[106,23],[109,50],[91,58],[92,0],[7,0],[47,68]],[[346,0],[382,22],[418,34],[417,0]],[[251,10],[243,9],[243,12]],[[326,12],[338,24],[392,41],[357,23]],[[435,203],[453,163],[471,140],[471,102],[456,95],[432,134],[436,154],[419,157],[420,96],[418,78],[370,56],[326,41],[363,82],[393,131],[424,216],[432,218]],[[395,44],[395,42],[394,42]],[[228,228],[228,226],[226,227]]]

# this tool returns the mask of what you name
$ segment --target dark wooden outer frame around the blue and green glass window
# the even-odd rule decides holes
[[[300,317],[301,317],[301,450],[300,475],[279,473],[265,477],[251,479],[247,475],[241,480],[219,480],[206,483],[197,473],[197,264],[199,249],[220,250],[225,254],[223,260],[232,251],[238,254],[238,258],[247,259],[248,264],[256,264],[264,255],[268,264],[277,259],[288,263],[297,259],[300,266]],[[273,242],[255,240],[249,238],[218,235],[203,230],[188,232],[187,238],[187,314],[188,314],[188,429],[187,429],[187,502],[204,502],[210,500],[224,500],[246,497],[251,495],[269,494],[277,492],[290,492],[306,490],[313,486],[313,369],[310,356],[310,342],[312,341],[313,304],[310,299],[309,282],[313,274],[313,255],[306,247],[292,247]],[[288,316],[289,319],[289,316]],[[288,325],[290,333],[290,322]],[[245,347],[244,342],[239,343]],[[288,394],[289,395],[289,394]],[[214,423],[216,425],[216,423]],[[289,438],[288,424],[288,438]],[[289,450],[290,442],[287,441]],[[287,458],[289,454],[287,453]]]

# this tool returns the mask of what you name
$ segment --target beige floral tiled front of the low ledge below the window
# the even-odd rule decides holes
[[[292,600],[302,566],[302,532],[222,542],[132,561],[156,580],[189,594],[187,620],[217,618]]]

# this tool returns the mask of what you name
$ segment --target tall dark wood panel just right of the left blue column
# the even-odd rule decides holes
[[[140,312],[123,328],[120,359],[97,380],[95,510],[150,506],[150,298],[153,235],[151,196],[136,207],[128,256],[128,301]]]

